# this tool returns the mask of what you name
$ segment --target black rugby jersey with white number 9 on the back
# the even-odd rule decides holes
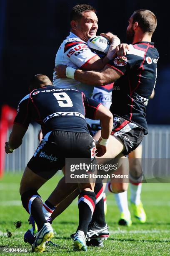
[[[44,136],[54,130],[89,133],[85,117],[95,118],[99,105],[75,89],[48,85],[33,90],[20,101],[14,123],[27,129],[31,120],[35,120]]]

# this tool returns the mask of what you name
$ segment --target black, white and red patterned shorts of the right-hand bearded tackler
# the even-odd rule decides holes
[[[139,127],[137,124],[131,123],[117,115],[113,115],[111,135],[121,139],[122,143],[125,145],[125,150],[122,154],[126,156],[139,146],[145,134],[143,128]]]

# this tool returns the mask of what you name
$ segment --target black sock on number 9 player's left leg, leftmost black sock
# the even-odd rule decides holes
[[[35,189],[28,190],[21,196],[23,207],[32,216],[38,226],[38,230],[42,228],[46,223],[43,211],[42,211],[42,199]]]

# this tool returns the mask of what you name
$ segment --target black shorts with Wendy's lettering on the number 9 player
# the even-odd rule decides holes
[[[89,133],[52,131],[42,141],[27,166],[44,179],[50,179],[65,166],[66,158],[94,158],[95,143]]]

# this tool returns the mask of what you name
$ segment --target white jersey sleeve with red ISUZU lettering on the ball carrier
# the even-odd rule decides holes
[[[85,42],[76,40],[68,41],[65,44],[64,55],[79,68],[84,67],[88,61],[97,56],[97,54],[90,50]]]

